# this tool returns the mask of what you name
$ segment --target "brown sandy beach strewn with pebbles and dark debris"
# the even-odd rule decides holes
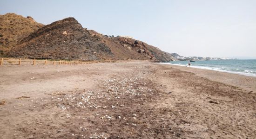
[[[141,61],[4,65],[0,138],[255,139],[255,90],[255,77]]]

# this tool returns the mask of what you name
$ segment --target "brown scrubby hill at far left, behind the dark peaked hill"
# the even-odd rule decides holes
[[[0,15],[0,56],[42,26],[30,16],[25,18],[15,13]]]

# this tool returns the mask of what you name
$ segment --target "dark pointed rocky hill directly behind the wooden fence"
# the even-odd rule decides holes
[[[10,57],[99,60],[113,58],[108,46],[90,36],[74,18],[66,18],[40,28],[24,38]]]

